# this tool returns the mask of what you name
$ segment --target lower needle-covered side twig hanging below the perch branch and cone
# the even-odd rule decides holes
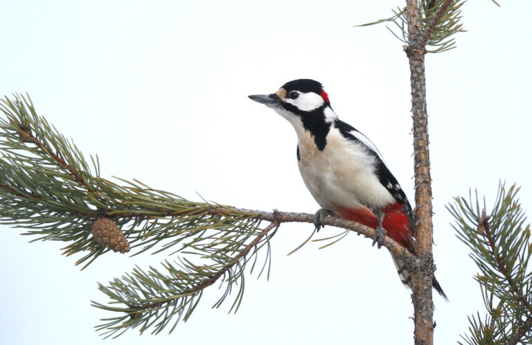
[[[243,271],[247,260],[242,263],[241,260],[245,259],[252,249],[256,248],[260,242],[267,236],[269,231],[278,228],[278,222],[272,222],[263,231],[261,231],[254,240],[242,249],[236,256],[227,260],[225,263],[220,263],[216,269],[209,269],[208,267],[199,267],[191,263],[184,263],[181,267],[186,267],[187,272],[179,269],[175,269],[170,263],[166,262],[166,268],[172,274],[171,277],[161,278],[162,275],[157,270],[152,268],[150,274],[145,274],[137,267],[135,272],[135,278],[132,276],[123,277],[122,281],[115,279],[109,287],[99,285],[101,291],[105,292],[109,297],[112,297],[118,303],[124,303],[127,308],[113,308],[105,306],[102,303],[92,301],[92,306],[103,310],[109,310],[114,312],[122,312],[120,317],[114,317],[112,319],[105,319],[108,321],[106,324],[96,327],[96,330],[107,330],[103,334],[107,334],[107,337],[111,335],[121,335],[120,331],[125,331],[128,328],[134,328],[141,326],[140,332],[148,329],[153,325],[154,319],[157,320],[162,314],[165,317],[154,326],[152,333],[159,333],[170,322],[172,317],[177,317],[175,324],[170,329],[170,333],[177,326],[177,323],[183,318],[184,321],[190,317],[195,306],[201,298],[201,294],[205,288],[213,285],[222,278],[222,283],[227,283],[226,294],[216,303],[215,306],[220,306],[224,297],[227,296],[227,292],[231,290],[231,285],[237,281],[237,277],[240,278],[241,287],[244,286]],[[271,237],[271,236],[270,236]],[[256,249],[257,250],[257,249]],[[251,269],[252,270],[252,269]],[[207,272],[206,274],[203,274]],[[195,279],[186,277],[186,274],[201,274],[202,279],[199,283],[195,283]],[[150,282],[153,290],[146,292],[145,286],[139,284],[140,281]],[[182,281],[186,283],[182,284]],[[195,285],[192,285],[195,284]],[[192,286],[190,286],[192,285]],[[183,289],[183,286],[190,286],[190,288]],[[240,306],[242,301],[242,290],[238,293],[231,310],[234,308],[235,312]],[[139,295],[143,294],[144,298],[140,299]],[[161,296],[163,295],[163,297]],[[170,311],[171,310],[171,311]],[[231,312],[229,310],[229,312]],[[118,325],[118,326],[115,326]],[[116,335],[115,337],[118,337]]]

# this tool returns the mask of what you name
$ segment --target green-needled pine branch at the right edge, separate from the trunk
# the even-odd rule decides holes
[[[531,344],[532,341],[532,256],[530,226],[517,200],[515,185],[499,193],[490,215],[486,203],[456,197],[447,209],[455,218],[459,239],[471,249],[479,267],[475,279],[481,287],[490,321],[470,318],[468,344]]]

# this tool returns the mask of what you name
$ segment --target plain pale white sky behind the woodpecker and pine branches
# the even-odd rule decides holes
[[[469,1],[454,51],[427,56],[434,180],[437,344],[452,344],[484,315],[477,272],[445,204],[477,187],[493,202],[499,179],[529,185],[532,87],[530,1]],[[318,209],[296,167],[289,123],[252,102],[296,78],[314,78],[333,109],[369,136],[410,200],[409,67],[384,26],[404,1],[4,1],[0,95],[26,92],[37,112],[98,153],[104,177],[136,178],[199,200],[251,209]],[[393,24],[392,24],[393,25]],[[386,249],[352,234],[286,254],[312,231],[275,236],[269,281],[248,276],[236,315],[211,310],[209,289],[172,335],[129,330],[109,344],[411,344],[413,308]],[[164,256],[101,256],[80,272],[64,243],[3,227],[1,344],[95,344],[107,283]],[[323,237],[338,233],[326,228]],[[320,235],[322,234],[320,233]],[[172,258],[170,258],[172,259]]]

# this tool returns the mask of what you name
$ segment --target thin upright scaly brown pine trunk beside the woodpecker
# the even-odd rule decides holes
[[[412,115],[414,119],[414,179],[416,184],[416,267],[413,272],[415,344],[434,344],[432,321],[432,188],[429,162],[429,134],[425,93],[425,44],[421,42],[416,0],[407,0],[409,44],[405,48],[410,64]]]

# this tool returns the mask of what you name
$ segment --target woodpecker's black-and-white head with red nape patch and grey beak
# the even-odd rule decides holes
[[[332,113],[329,97],[320,82],[297,79],[287,82],[274,94],[251,95],[252,100],[273,108],[294,124],[294,121],[325,121]]]

